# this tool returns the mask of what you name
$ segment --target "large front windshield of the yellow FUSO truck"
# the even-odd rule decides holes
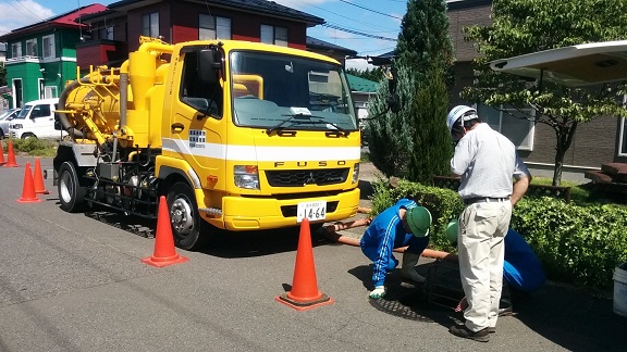
[[[250,51],[231,53],[233,118],[238,126],[272,130],[357,130],[346,76],[340,65],[292,55]]]

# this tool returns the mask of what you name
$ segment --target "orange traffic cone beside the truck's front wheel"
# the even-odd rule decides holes
[[[155,235],[155,253],[152,256],[142,259],[142,262],[163,267],[172,264],[187,262],[188,259],[181,256],[174,249],[174,237],[172,227],[170,227],[170,213],[168,212],[168,202],[165,197],[159,198],[159,213],[157,214],[157,235]]]

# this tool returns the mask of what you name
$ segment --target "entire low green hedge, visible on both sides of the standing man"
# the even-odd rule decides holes
[[[373,188],[373,215],[403,197],[415,199],[433,215],[430,247],[456,251],[444,229],[464,209],[457,192],[405,180],[392,187],[386,179],[374,181]],[[550,279],[607,287],[616,265],[627,261],[627,208],[623,205],[524,198],[514,209],[511,227],[527,239]]]

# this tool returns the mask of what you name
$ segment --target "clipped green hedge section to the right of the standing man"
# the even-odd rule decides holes
[[[627,261],[627,209],[622,205],[522,199],[512,228],[525,235],[555,280],[610,286],[616,265]]]

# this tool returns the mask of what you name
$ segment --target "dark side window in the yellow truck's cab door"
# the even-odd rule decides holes
[[[198,52],[188,52],[183,61],[183,79],[180,99],[199,112],[222,117],[222,86],[217,71],[201,77],[199,65],[210,65],[198,60]],[[205,67],[204,67],[205,68]]]

